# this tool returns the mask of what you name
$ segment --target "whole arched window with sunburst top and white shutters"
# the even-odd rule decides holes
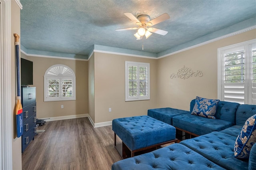
[[[76,76],[66,65],[52,65],[44,73],[44,101],[76,100]]]

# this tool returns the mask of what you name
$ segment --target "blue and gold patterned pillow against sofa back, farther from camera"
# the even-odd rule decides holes
[[[204,99],[202,97],[196,96],[196,103],[194,105],[193,111],[191,112],[191,115],[216,119],[214,115],[216,114],[219,101],[219,99]]]

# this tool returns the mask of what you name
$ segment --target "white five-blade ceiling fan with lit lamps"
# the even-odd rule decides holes
[[[139,27],[121,28],[121,29],[116,29],[116,31],[137,30],[138,29],[138,32],[136,32],[136,34],[134,34],[134,36],[137,38],[137,40],[141,40],[144,35],[146,38],[148,38],[149,36],[152,35],[151,32],[160,34],[162,36],[165,36],[168,33],[167,31],[151,27],[160,22],[168,20],[170,18],[170,16],[167,13],[164,13],[164,14],[156,17],[153,20],[150,20],[150,16],[148,16],[148,15],[140,15],[137,18],[130,12],[126,12],[126,13],[124,13],[124,15],[127,16],[133,22],[135,22]]]

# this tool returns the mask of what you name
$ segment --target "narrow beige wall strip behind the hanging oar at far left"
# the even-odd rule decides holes
[[[20,8],[16,4],[14,0],[11,1],[11,64],[12,64],[12,73],[11,73],[11,89],[12,89],[12,108],[13,108],[13,139],[12,139],[12,169],[13,170],[21,170],[22,169],[22,161],[21,161],[21,137],[17,138],[16,131],[16,113],[15,113],[15,105],[16,105],[16,60],[15,60],[15,45],[14,45],[14,36],[16,33],[20,36]],[[21,39],[21,38],[20,38]]]

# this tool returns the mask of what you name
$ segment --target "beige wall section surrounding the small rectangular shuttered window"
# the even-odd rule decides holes
[[[125,61],[150,63],[150,100],[125,102]],[[106,53],[94,53],[95,122],[147,115],[156,107],[157,60]],[[112,108],[112,112],[108,112]]]

